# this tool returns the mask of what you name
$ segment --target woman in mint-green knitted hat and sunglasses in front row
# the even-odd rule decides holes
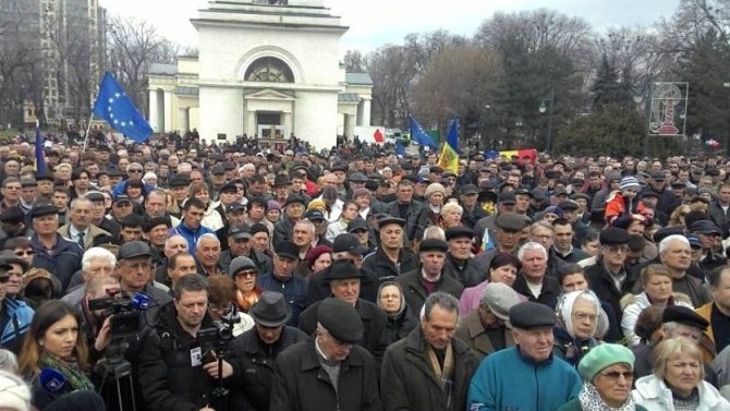
[[[631,396],[634,354],[616,343],[591,350],[577,365],[583,388],[558,411],[646,411]]]

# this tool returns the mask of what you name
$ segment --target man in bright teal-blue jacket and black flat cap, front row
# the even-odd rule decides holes
[[[535,303],[512,306],[515,346],[488,355],[472,378],[466,410],[556,411],[581,390],[581,377],[552,355],[555,311]]]

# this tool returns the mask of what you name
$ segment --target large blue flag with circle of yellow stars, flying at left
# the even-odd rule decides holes
[[[105,73],[99,86],[94,114],[105,119],[112,129],[137,143],[146,141],[153,134],[153,128],[109,72]]]

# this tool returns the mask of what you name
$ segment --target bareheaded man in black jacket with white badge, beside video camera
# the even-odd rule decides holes
[[[145,404],[155,411],[212,411],[209,391],[218,362],[197,338],[200,329],[215,327],[207,313],[208,281],[197,274],[183,276],[173,291],[173,301],[161,307],[142,343],[138,380]],[[223,378],[234,374],[227,361],[221,368]]]

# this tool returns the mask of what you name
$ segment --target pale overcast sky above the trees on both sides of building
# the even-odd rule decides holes
[[[100,0],[112,15],[134,16],[155,24],[160,33],[185,46],[195,46],[197,35],[190,23],[207,0]],[[555,9],[579,15],[594,28],[622,25],[650,26],[670,16],[679,0],[325,0],[350,29],[342,37],[341,52],[364,52],[385,44],[399,44],[410,33],[443,28],[472,36],[495,11]]]

